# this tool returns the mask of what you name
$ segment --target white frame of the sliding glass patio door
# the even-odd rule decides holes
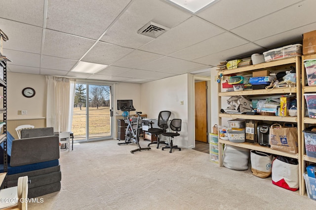
[[[110,140],[110,139],[114,139],[114,134],[115,134],[115,117],[114,117],[114,108],[115,108],[115,84],[113,82],[106,82],[106,81],[97,81],[97,80],[84,80],[84,79],[77,79],[76,83],[85,83],[86,85],[86,89],[88,90],[88,86],[89,85],[100,85],[100,86],[110,86],[111,87],[111,97],[110,97],[110,110],[112,110],[112,116],[111,116],[111,136],[107,136],[107,137],[101,137],[101,138],[95,138],[95,139],[87,139],[87,135],[89,132],[89,127],[86,127],[86,136],[85,139],[81,139],[81,140],[76,140],[75,142],[94,142],[94,141],[102,141],[102,140]],[[87,104],[88,104],[88,97],[86,98],[87,100]],[[86,125],[89,123],[89,119],[88,119],[88,115],[89,115],[89,109],[88,107],[86,107]],[[76,134],[75,134],[76,135]]]

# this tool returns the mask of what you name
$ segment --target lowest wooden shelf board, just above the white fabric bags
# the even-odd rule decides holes
[[[222,139],[219,139],[218,142],[220,144],[228,144],[228,145],[233,145],[233,146],[240,147],[240,148],[246,148],[249,150],[258,150],[258,151],[268,152],[271,154],[282,155],[282,156],[292,157],[292,158],[298,159],[298,153],[289,153],[289,152],[284,152],[284,151],[272,150],[269,147],[264,147],[264,146],[261,146],[259,144],[252,144],[252,143],[248,143],[248,142],[234,143],[234,142],[230,142],[228,140],[222,140]]]

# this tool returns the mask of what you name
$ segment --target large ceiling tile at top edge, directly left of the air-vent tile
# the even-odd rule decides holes
[[[130,0],[50,0],[47,29],[98,39]]]

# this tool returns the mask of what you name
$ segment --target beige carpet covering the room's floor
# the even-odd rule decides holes
[[[209,161],[197,150],[130,153],[107,140],[61,151],[61,190],[30,210],[303,210],[316,201]],[[146,146],[148,141],[141,141]]]

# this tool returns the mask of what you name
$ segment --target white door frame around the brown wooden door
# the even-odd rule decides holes
[[[205,76],[197,76],[194,75],[193,76],[193,98],[195,98],[195,83],[198,81],[206,81],[206,86],[207,86],[207,90],[206,90],[206,120],[207,120],[207,133],[210,133],[211,131],[211,78],[210,77],[205,77]],[[195,101],[193,100],[193,107],[195,110]],[[193,136],[195,138],[196,136],[196,117],[195,115],[193,115]],[[207,141],[208,141],[208,136],[207,136]],[[193,148],[196,147],[196,141],[194,139],[193,141]]]

